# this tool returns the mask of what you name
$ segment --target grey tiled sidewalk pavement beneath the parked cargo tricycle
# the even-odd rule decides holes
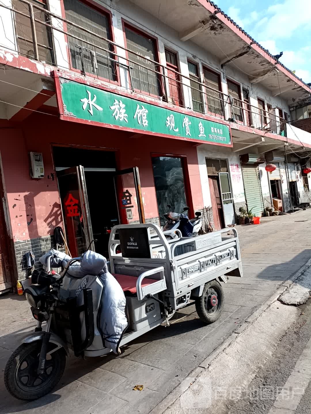
[[[123,348],[120,357],[68,360],[58,388],[36,402],[7,394],[0,378],[0,412],[53,414],[160,413],[174,389],[247,320],[258,306],[311,258],[311,209],[262,219],[259,226],[238,226],[244,277],[224,286],[220,320],[204,326],[190,306],[170,327],[158,327]],[[0,296],[0,369],[34,326],[29,305],[18,296]],[[133,387],[143,384],[143,391]]]

